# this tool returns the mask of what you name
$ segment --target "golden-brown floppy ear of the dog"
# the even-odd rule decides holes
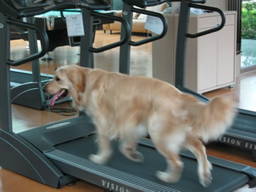
[[[73,82],[75,90],[83,92],[85,90],[85,73],[82,70],[70,70],[68,72],[68,79]]]

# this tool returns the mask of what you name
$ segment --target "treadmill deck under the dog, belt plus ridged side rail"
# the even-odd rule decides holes
[[[245,174],[213,165],[213,181],[203,188],[198,180],[197,161],[182,156],[183,174],[178,183],[164,183],[156,178],[156,171],[166,169],[166,161],[153,147],[139,144],[138,151],[144,154],[145,162],[135,163],[125,158],[113,142],[114,153],[106,165],[88,160],[96,154],[95,136],[91,135],[72,142],[59,144],[52,151],[45,152],[65,174],[89,181],[103,188],[127,191],[234,191],[244,186],[249,178]],[[120,184],[121,183],[121,184]],[[119,189],[118,189],[119,188]],[[188,189],[189,188],[189,189]]]

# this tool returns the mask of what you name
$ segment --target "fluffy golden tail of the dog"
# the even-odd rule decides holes
[[[208,103],[197,102],[189,107],[194,119],[193,129],[203,142],[218,139],[233,124],[235,102],[215,97]]]

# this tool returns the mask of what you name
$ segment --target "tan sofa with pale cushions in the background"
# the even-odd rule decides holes
[[[146,10],[148,11],[155,11],[155,12],[163,12],[164,10],[169,8],[169,4],[160,4],[158,6],[149,6],[146,7]],[[122,10],[114,11],[116,16],[122,16]],[[144,28],[146,23],[146,15],[144,14],[137,14],[133,13],[133,19],[132,19],[132,33],[151,33],[146,28]],[[114,21],[114,23],[108,23],[103,24],[102,28],[104,30],[104,33],[109,31],[112,33],[112,31],[121,31],[121,23]]]

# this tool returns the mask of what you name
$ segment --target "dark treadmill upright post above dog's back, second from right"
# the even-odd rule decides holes
[[[132,28],[132,6],[124,3],[123,11],[122,11],[122,18],[128,21],[129,26]],[[125,35],[124,34],[124,26],[121,28],[121,38]],[[129,41],[131,40],[131,36],[129,36]],[[120,46],[120,54],[119,54],[119,72],[128,74],[130,70],[130,52],[131,46],[129,46],[128,42],[125,43],[123,46]]]

